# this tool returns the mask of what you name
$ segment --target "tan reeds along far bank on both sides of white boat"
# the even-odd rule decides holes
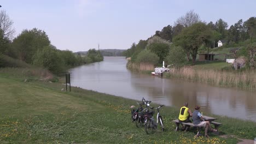
[[[131,71],[137,71],[138,73],[151,74],[154,71],[152,67],[142,67],[143,64],[132,63],[130,59],[127,60],[126,68]],[[181,68],[174,68],[170,73],[164,73],[165,79],[178,79],[188,82],[204,83],[217,87],[230,87],[240,90],[255,91],[256,90],[256,71],[255,70],[243,70],[234,71],[225,70],[221,68],[194,68],[193,66],[185,65]],[[208,67],[207,64],[204,67]]]

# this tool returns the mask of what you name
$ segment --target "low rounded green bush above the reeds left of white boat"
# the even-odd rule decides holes
[[[146,49],[138,53],[136,62],[156,65],[159,62],[159,57],[155,53]]]

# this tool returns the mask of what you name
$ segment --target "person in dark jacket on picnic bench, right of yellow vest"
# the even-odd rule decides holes
[[[195,111],[193,112],[193,116],[192,116],[193,123],[199,127],[205,127],[205,137],[209,137],[207,134],[208,129],[210,129],[211,131],[217,131],[217,130],[211,127],[211,124],[209,121],[205,121],[205,119],[203,119],[203,116],[200,113],[199,109],[200,109],[200,106],[195,106]]]

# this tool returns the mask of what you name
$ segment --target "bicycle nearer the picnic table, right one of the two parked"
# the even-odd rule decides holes
[[[162,121],[162,117],[160,115],[159,109],[160,107],[162,107],[164,105],[160,105],[158,107],[150,107],[148,105],[148,107],[150,107],[150,110],[147,112],[147,117],[145,119],[145,131],[147,134],[152,134],[154,133],[154,131],[158,128],[158,124],[161,125],[161,130],[164,131],[164,122]],[[158,115],[156,115],[156,123],[154,120],[154,110],[153,109],[157,109],[158,110]]]

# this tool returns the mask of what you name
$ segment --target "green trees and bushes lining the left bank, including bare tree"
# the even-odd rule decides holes
[[[103,61],[101,52],[95,49],[89,50],[85,57],[69,50],[58,50],[48,35],[37,28],[25,29],[13,39],[13,21],[3,10],[0,17],[0,68],[31,65],[62,73],[69,67]]]

